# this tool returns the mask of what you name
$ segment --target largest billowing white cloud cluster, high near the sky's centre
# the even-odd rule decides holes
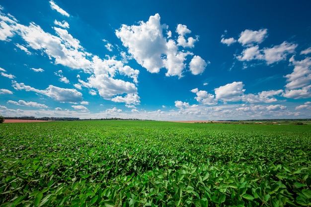
[[[190,51],[179,50],[178,46],[193,48],[198,37],[189,37],[186,40],[185,35],[191,31],[182,24],[178,24],[176,28],[179,35],[177,40],[170,39],[170,31],[166,32],[167,36],[163,36],[163,30],[167,31],[168,26],[161,25],[160,15],[155,14],[150,16],[147,22],[140,21],[139,25],[123,24],[119,30],[116,30],[116,35],[137,63],[149,72],[157,73],[161,68],[165,68],[166,76],[182,77],[186,67],[184,63],[186,56],[193,54]]]

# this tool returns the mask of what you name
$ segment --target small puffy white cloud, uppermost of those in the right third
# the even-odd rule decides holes
[[[241,32],[240,37],[237,41],[243,46],[251,45],[253,43],[262,43],[264,39],[268,36],[267,33],[267,29],[260,29],[258,31],[245,29],[243,32]]]

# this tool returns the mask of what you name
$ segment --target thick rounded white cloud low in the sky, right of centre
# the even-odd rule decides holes
[[[215,88],[215,95],[217,99],[222,99],[223,101],[239,101],[244,94],[245,89],[243,89],[244,84],[242,82],[228,83],[219,88]]]

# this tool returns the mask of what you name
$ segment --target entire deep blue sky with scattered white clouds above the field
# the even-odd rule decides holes
[[[0,115],[310,118],[310,8],[0,0]]]

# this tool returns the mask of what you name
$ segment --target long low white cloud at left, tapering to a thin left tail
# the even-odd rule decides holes
[[[12,86],[15,90],[33,91],[46,95],[59,102],[76,103],[82,101],[82,93],[78,92],[76,89],[60,88],[54,85],[49,85],[45,90],[39,90],[25,85],[24,83],[17,83],[16,81],[12,81]]]

